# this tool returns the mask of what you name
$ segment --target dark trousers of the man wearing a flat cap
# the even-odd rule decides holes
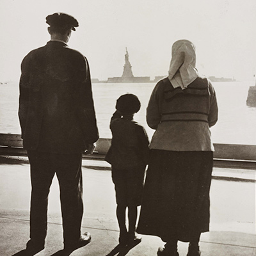
[[[28,151],[31,165],[30,238],[44,243],[47,233],[47,205],[50,186],[56,173],[60,185],[63,237],[65,244],[81,236],[83,217],[82,154],[52,154]]]

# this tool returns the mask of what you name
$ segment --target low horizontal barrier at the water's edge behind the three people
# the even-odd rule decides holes
[[[111,139],[100,138],[92,155],[84,159],[104,160]],[[256,170],[256,145],[214,143],[214,166]],[[27,156],[20,134],[0,134],[0,156]]]

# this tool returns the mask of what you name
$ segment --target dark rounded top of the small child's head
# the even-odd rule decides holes
[[[132,115],[140,110],[140,100],[134,94],[124,94],[116,100],[116,109],[122,114]]]

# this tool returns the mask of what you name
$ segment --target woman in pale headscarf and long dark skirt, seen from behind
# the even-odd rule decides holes
[[[178,256],[177,241],[189,242],[187,256],[198,256],[200,234],[209,231],[209,127],[218,120],[218,106],[195,62],[194,45],[175,42],[169,76],[156,84],[148,102],[147,123],[156,132],[137,231],[161,237],[166,244],[159,256]]]

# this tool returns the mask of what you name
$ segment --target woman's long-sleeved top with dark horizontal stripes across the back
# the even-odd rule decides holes
[[[218,120],[212,84],[197,77],[188,88],[173,88],[168,78],[156,84],[147,108],[147,123],[156,129],[150,148],[213,151],[209,127]]]

